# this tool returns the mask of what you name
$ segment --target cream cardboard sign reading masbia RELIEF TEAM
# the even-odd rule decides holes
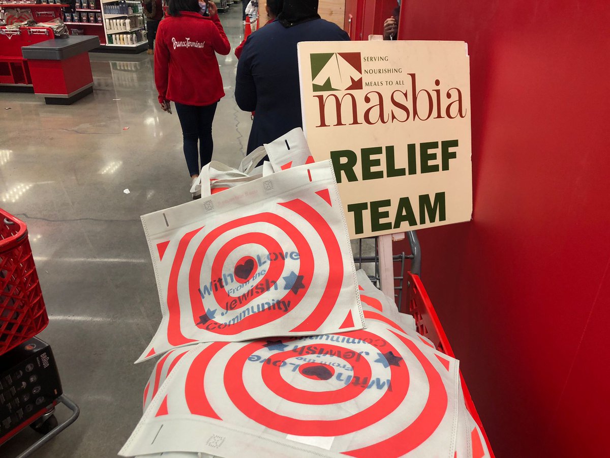
[[[464,42],[298,44],[303,128],[332,159],[351,238],[470,220]]]

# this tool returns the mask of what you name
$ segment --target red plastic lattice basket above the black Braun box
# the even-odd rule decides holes
[[[0,355],[47,324],[26,224],[0,208]]]

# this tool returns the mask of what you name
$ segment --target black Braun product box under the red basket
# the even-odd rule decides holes
[[[49,344],[34,337],[0,355],[0,444],[61,394]]]

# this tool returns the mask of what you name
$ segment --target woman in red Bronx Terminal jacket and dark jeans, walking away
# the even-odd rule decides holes
[[[226,56],[231,51],[216,5],[210,1],[208,9],[210,16],[204,17],[198,0],[170,0],[170,16],[160,22],[155,45],[159,103],[170,112],[170,100],[176,105],[184,157],[193,180],[201,170],[198,159],[201,167],[212,160],[212,121],[224,96],[215,53]]]

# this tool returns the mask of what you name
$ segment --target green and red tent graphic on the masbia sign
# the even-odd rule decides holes
[[[360,53],[310,54],[314,92],[362,89]]]

